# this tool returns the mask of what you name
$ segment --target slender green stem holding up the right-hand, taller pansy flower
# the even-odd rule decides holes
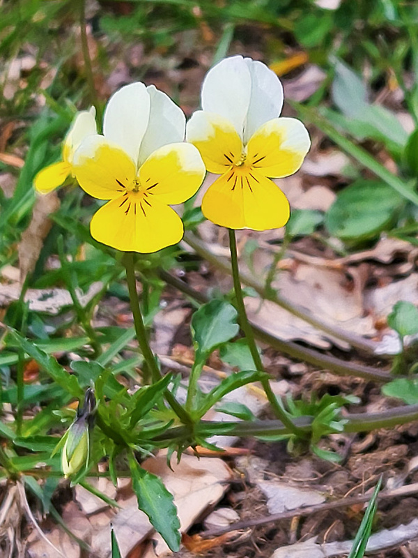
[[[235,239],[235,230],[229,229],[229,248],[231,250],[231,269],[232,269],[232,278],[233,278],[233,288],[235,291],[235,299],[237,303],[237,310],[239,316],[239,322],[242,331],[245,333],[245,337],[247,338],[247,343],[249,347],[249,351],[251,352],[251,356],[253,358],[254,364],[256,365],[256,369],[260,371],[264,371],[263,363],[261,362],[261,356],[258,353],[256,342],[254,340],[253,331],[251,326],[248,322],[247,312],[245,311],[245,304],[244,299],[242,297],[242,289],[241,289],[241,282],[240,282],[240,271],[238,269],[238,253],[237,253],[237,242]],[[291,418],[288,417],[288,414],[284,410],[283,405],[279,402],[279,398],[274,395],[272,388],[270,386],[270,382],[267,378],[261,380],[261,385],[265,391],[265,395],[272,406],[274,414],[281,420],[281,422],[288,428],[293,434],[297,436],[301,436],[304,434],[300,428],[293,424]]]

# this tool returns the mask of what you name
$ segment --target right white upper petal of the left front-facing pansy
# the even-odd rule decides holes
[[[150,85],[146,90],[150,97],[150,116],[139,149],[139,165],[156,149],[163,145],[183,142],[185,138],[186,117],[183,110],[155,86]]]

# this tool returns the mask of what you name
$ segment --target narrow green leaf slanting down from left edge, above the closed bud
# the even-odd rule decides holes
[[[9,329],[8,335],[10,335],[10,337],[17,342],[17,345],[19,345],[25,353],[29,354],[29,356],[52,377],[54,382],[59,384],[67,393],[79,399],[84,397],[84,391],[79,386],[77,378],[69,374],[65,368],[59,365],[53,356],[49,356],[49,354],[42,351],[37,345],[21,337],[14,329]]]

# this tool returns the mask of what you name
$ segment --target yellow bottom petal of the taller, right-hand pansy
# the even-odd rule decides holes
[[[208,189],[203,215],[229,229],[263,231],[286,225],[290,210],[284,193],[257,172],[231,169]]]

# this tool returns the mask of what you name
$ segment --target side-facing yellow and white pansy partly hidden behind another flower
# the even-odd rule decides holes
[[[97,133],[95,108],[77,112],[63,141],[62,160],[38,172],[33,181],[35,189],[42,194],[47,194],[61,186],[67,176],[73,174],[72,159],[79,144],[88,135]]]

